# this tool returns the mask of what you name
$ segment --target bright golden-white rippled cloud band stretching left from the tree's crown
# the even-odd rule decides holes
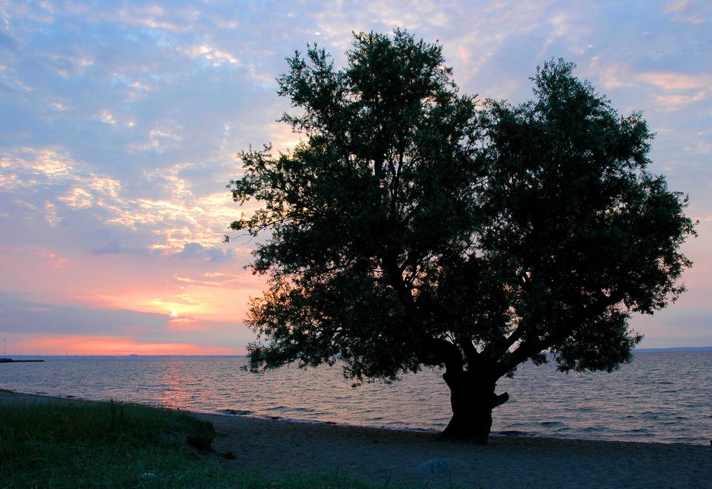
[[[117,179],[96,174],[85,162],[78,162],[59,148],[22,148],[0,159],[0,184],[17,203],[35,209],[43,219],[57,224],[72,212],[84,212],[104,226],[118,225],[127,231],[150,231],[147,250],[180,256],[206,256],[229,260],[231,251],[220,248],[227,224],[234,219],[236,206],[228,191],[197,195],[179,172],[190,165],[176,165],[147,172],[150,194],[166,198],[127,196]],[[225,181],[227,177],[225,177]],[[200,247],[200,248],[197,248]],[[95,253],[140,252],[115,241],[97,243]]]

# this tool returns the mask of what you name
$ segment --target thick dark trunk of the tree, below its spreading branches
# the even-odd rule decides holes
[[[494,392],[496,380],[474,372],[445,372],[443,379],[450,387],[452,419],[440,437],[486,445],[492,428],[492,409],[504,404],[509,394],[498,396]]]

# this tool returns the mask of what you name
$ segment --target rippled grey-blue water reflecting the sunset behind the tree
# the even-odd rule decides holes
[[[357,389],[339,367],[248,374],[241,357],[46,357],[0,364],[0,388],[115,399],[203,412],[441,431],[449,390],[426,370],[392,385]],[[493,433],[708,444],[712,352],[639,353],[612,374],[560,374],[522,365],[498,392]]]

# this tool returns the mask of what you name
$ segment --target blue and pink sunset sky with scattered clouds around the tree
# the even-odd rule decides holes
[[[0,0],[0,354],[243,354],[265,279],[225,186],[276,120],[285,58],[352,31],[438,41],[461,92],[512,103],[552,58],[656,132],[689,195],[689,289],[641,347],[712,345],[712,4],[699,1]]]

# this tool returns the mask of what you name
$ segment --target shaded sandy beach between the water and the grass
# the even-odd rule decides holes
[[[0,401],[56,398],[0,391]],[[477,446],[427,432],[197,416],[214,425],[215,450],[234,453],[226,466],[271,476],[339,469],[363,480],[428,488],[450,481],[486,489],[712,487],[712,446],[524,437],[493,437]]]

